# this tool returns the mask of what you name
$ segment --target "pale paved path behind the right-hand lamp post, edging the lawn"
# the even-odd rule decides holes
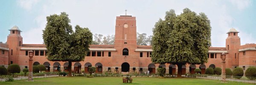
[[[214,80],[221,80],[221,77],[197,77],[201,79],[214,79]],[[247,82],[247,83],[256,83],[256,80],[246,80],[246,79],[226,79],[226,81],[235,81],[235,82]]]

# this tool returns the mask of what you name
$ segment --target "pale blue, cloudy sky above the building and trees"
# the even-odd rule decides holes
[[[241,45],[256,43],[256,0],[0,0],[0,42],[18,26],[23,44],[42,44],[46,17],[66,12],[71,25],[89,28],[93,34],[115,33],[116,16],[132,15],[137,32],[152,35],[152,28],[165,12],[184,8],[204,12],[211,21],[212,47],[225,47],[230,28],[239,31]]]

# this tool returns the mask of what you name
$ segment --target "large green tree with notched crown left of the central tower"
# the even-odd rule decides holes
[[[72,62],[84,60],[89,51],[93,34],[88,28],[76,25],[75,32],[70,25],[68,14],[61,12],[47,17],[47,24],[43,30],[44,44],[47,48],[47,59],[50,61],[68,62],[71,77]]]

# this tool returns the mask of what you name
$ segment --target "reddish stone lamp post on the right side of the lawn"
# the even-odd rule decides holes
[[[222,59],[222,73],[221,73],[221,75],[222,75],[222,79],[221,79],[221,82],[226,82],[226,61],[225,61],[225,59],[226,59],[226,54],[225,53],[222,53],[221,54],[221,59]]]

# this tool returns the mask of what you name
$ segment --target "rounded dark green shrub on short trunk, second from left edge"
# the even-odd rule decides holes
[[[12,77],[14,77],[15,73],[20,73],[20,66],[17,64],[11,64],[8,66],[7,70],[12,74]]]

